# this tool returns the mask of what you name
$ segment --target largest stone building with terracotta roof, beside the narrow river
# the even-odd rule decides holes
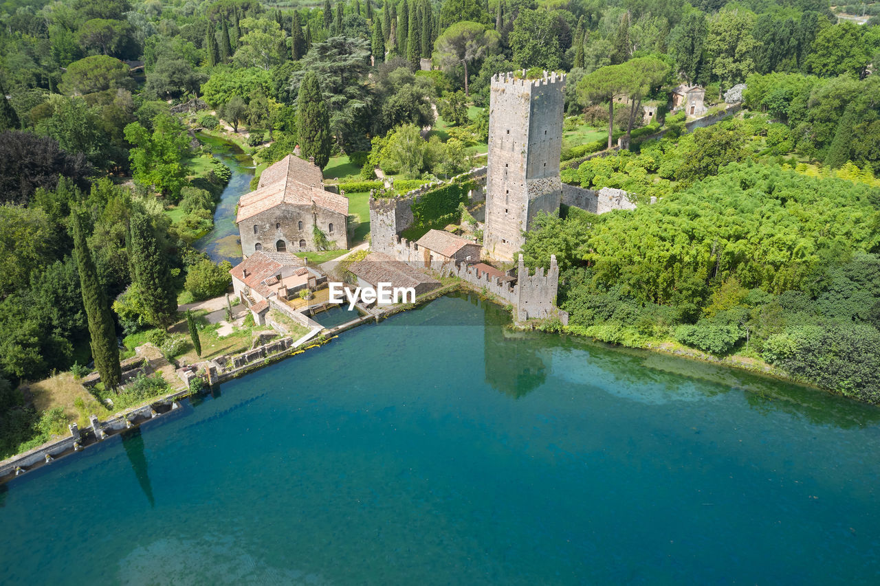
[[[269,165],[256,191],[241,196],[236,223],[245,258],[319,250],[316,228],[330,247],[348,248],[348,199],[326,191],[319,167],[294,155]]]

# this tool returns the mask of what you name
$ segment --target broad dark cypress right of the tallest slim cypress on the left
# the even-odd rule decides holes
[[[167,324],[177,310],[177,295],[165,254],[143,214],[131,218],[128,262],[131,282],[141,295],[144,318],[154,326]]]

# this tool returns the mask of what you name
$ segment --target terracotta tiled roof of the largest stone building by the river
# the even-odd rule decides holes
[[[281,203],[312,204],[348,216],[348,198],[324,189],[324,178],[316,165],[288,155],[260,175],[256,191],[238,200],[236,222],[243,222]]]

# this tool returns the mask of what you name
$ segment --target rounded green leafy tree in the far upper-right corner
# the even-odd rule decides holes
[[[850,73],[862,77],[871,56],[862,40],[859,26],[844,20],[816,35],[807,65],[819,76]]]

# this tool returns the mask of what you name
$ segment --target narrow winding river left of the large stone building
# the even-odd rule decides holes
[[[215,157],[229,166],[232,175],[214,211],[214,229],[196,240],[194,247],[207,253],[215,262],[229,260],[237,265],[241,261],[241,241],[235,223],[235,207],[238,198],[251,191],[253,159],[235,143],[201,133],[197,136],[199,141],[210,146]]]

